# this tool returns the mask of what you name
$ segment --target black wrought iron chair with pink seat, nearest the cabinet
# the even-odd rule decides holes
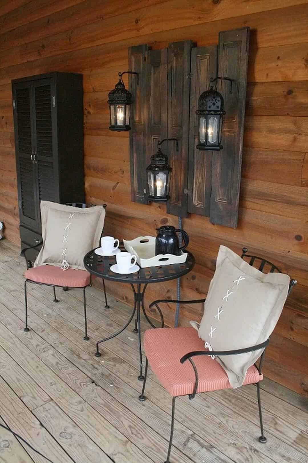
[[[92,207],[94,204],[89,204],[89,203],[66,203],[67,206],[74,206],[74,207]],[[107,205],[103,205],[104,208],[106,209]],[[102,232],[101,232],[102,235]],[[27,283],[34,283],[37,285],[43,285],[43,286],[52,286],[53,287],[53,294],[54,294],[54,302],[58,302],[57,296],[56,296],[56,288],[63,288],[64,291],[68,291],[69,288],[81,288],[83,290],[83,307],[84,307],[84,337],[83,339],[85,341],[88,341],[88,333],[87,333],[87,304],[86,304],[86,288],[88,286],[92,286],[92,274],[89,274],[86,270],[73,270],[69,269],[66,270],[65,272],[61,272],[61,277],[59,277],[59,267],[52,267],[51,265],[46,265],[42,266],[42,271],[44,272],[43,278],[38,278],[38,280],[41,281],[36,281],[36,276],[35,275],[30,275],[27,277],[27,273],[31,274],[31,272],[28,272],[28,270],[33,268],[32,261],[30,258],[27,257],[26,253],[29,250],[33,250],[43,244],[43,240],[38,241],[37,244],[34,246],[30,246],[28,248],[24,248],[20,256],[25,257],[25,262],[27,266],[27,271],[25,272],[25,328],[24,331],[29,331],[28,327],[28,301],[27,301]],[[38,268],[38,267],[37,267]],[[32,272],[33,273],[33,272]],[[44,282],[42,282],[44,280]],[[50,283],[47,281],[50,280]],[[55,282],[59,281],[59,284],[56,284]],[[61,281],[61,284],[60,284]],[[103,288],[104,288],[104,294],[105,294],[105,308],[109,308],[108,303],[107,303],[107,294],[106,294],[106,288],[105,288],[105,281],[103,280]]]

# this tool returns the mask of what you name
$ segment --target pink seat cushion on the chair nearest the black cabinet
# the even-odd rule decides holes
[[[54,265],[40,265],[25,272],[25,278],[38,283],[69,288],[83,288],[90,283],[90,274],[86,270],[62,270]]]

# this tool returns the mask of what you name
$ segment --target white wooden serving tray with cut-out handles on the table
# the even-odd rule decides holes
[[[130,241],[124,239],[123,243],[126,251],[137,257],[137,262],[142,268],[186,261],[187,253],[183,251],[181,251],[180,256],[174,254],[158,254],[155,256],[155,239],[154,236],[139,236]]]

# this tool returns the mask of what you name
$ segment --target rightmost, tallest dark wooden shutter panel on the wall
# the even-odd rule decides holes
[[[219,65],[221,77],[233,79],[232,94],[228,81],[218,82],[225,103],[222,145],[213,153],[210,221],[235,228],[239,214],[239,187],[243,150],[249,28],[220,32]]]

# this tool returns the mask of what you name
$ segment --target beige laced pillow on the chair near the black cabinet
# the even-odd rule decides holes
[[[41,201],[44,244],[34,263],[84,270],[83,258],[99,245],[104,227],[103,206],[87,208]]]

